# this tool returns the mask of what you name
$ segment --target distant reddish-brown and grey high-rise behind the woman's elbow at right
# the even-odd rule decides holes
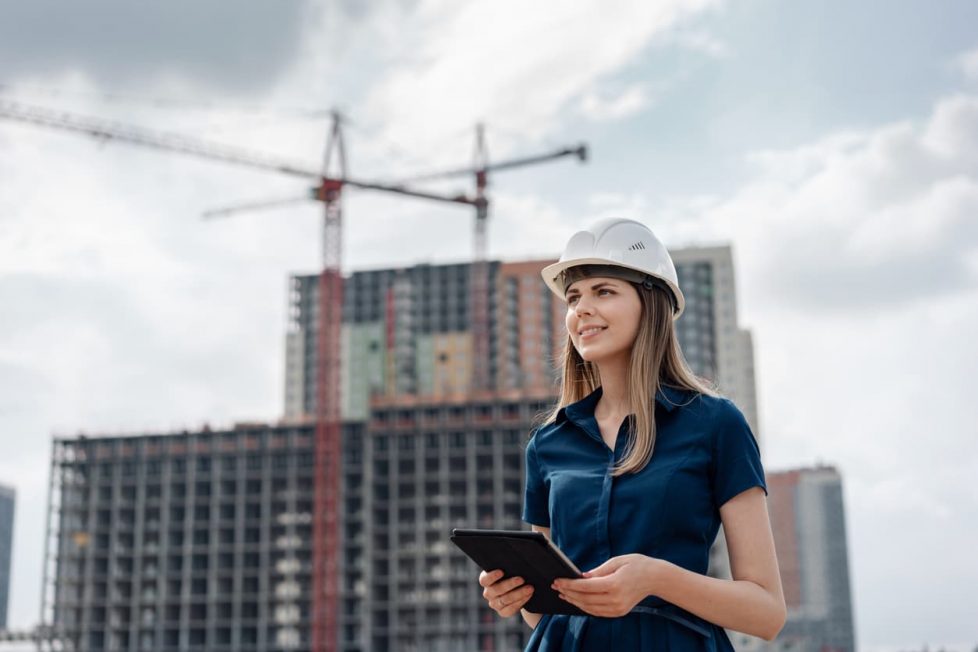
[[[769,649],[853,652],[842,477],[829,466],[769,473],[768,510],[788,620]]]

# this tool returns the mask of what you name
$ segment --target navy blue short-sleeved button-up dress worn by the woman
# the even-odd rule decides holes
[[[641,553],[706,574],[720,506],[751,487],[765,493],[754,435],[725,398],[664,387],[656,396],[656,440],[648,465],[613,477],[628,434],[612,451],[594,407],[598,388],[539,428],[526,447],[523,520],[551,528],[581,570]],[[722,627],[649,596],[619,618],[547,614],[526,652],[733,652]]]

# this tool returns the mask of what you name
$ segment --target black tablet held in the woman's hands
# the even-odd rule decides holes
[[[452,543],[484,571],[501,569],[504,577],[522,577],[533,587],[523,608],[537,614],[583,614],[561,600],[550,585],[558,577],[579,578],[581,571],[542,532],[524,530],[452,530]]]

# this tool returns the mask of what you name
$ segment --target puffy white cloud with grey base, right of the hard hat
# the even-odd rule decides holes
[[[786,306],[866,313],[978,283],[978,97],[923,124],[834,134],[750,157],[756,174],[712,207],[673,206],[679,240],[737,243],[752,287]]]

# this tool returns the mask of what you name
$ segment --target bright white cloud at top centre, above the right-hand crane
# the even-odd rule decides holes
[[[566,123],[574,102],[602,116],[636,110],[645,100],[640,86],[619,102],[586,99],[589,89],[634,65],[653,36],[716,4],[430,0],[402,25],[402,63],[378,80],[366,114],[382,138],[425,148],[436,158],[431,144],[442,134],[484,119],[539,141]],[[505,153],[519,145],[509,138],[495,146]]]

